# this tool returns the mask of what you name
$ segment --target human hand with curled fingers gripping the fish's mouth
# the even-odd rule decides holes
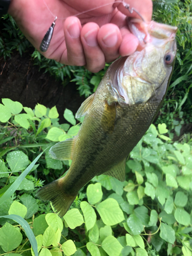
[[[151,0],[125,1],[146,21],[151,20]],[[126,16],[122,13],[125,8],[118,1],[12,0],[8,13],[37,50],[54,21],[46,5],[58,17],[50,47],[42,53],[46,58],[66,65],[86,66],[91,72],[98,72],[105,62],[111,62],[119,55],[130,55],[137,49],[138,39],[128,30]],[[98,9],[89,11],[93,8]],[[78,18],[73,16],[83,11],[89,12],[78,15]],[[136,12],[126,11],[126,15],[139,18]]]

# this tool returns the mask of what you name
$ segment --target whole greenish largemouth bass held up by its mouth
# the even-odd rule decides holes
[[[140,51],[114,61],[96,92],[76,117],[84,116],[77,136],[58,142],[49,154],[72,160],[65,177],[40,188],[37,197],[66,214],[78,191],[93,177],[125,179],[125,161],[157,115],[173,73],[177,27],[127,21]]]

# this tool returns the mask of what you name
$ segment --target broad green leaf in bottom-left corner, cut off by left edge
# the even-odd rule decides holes
[[[5,252],[17,248],[22,239],[22,233],[8,222],[0,229],[0,245]]]

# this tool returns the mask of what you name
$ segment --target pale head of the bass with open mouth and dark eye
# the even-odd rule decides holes
[[[177,27],[128,20],[129,29],[139,40],[139,51],[117,60],[121,65],[113,75],[112,88],[120,103],[133,105],[152,98],[160,87],[164,97],[173,72]],[[115,62],[114,62],[115,63]],[[115,70],[115,65],[112,71]]]

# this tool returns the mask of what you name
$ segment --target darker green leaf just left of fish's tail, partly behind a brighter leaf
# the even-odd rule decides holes
[[[29,194],[23,194],[19,199],[27,207],[26,219],[29,219],[34,214],[36,214],[39,207],[38,207],[38,204],[37,204],[37,200],[34,199],[34,197],[32,197]]]

